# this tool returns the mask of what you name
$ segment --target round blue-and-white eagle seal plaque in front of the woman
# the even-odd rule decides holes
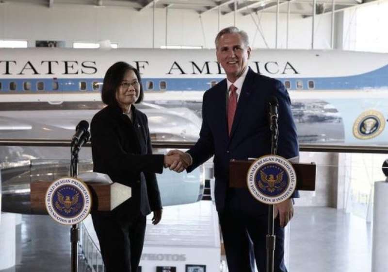
[[[81,180],[64,177],[50,184],[46,191],[45,204],[52,219],[64,225],[74,225],[90,213],[92,195]]]

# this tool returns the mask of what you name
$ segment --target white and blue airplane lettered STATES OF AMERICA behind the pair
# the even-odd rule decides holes
[[[79,120],[90,121],[103,107],[104,73],[117,61],[142,75],[145,103],[139,107],[152,139],[195,141],[203,93],[225,78],[214,50],[0,49],[0,137],[69,138]],[[388,54],[258,49],[249,66],[289,90],[300,143],[388,144]],[[67,150],[1,150],[8,170],[25,160],[55,166],[68,156]],[[90,159],[90,151],[84,156]],[[8,180],[16,183],[21,175]],[[190,199],[199,199],[200,184]]]

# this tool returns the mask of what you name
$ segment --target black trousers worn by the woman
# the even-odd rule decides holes
[[[146,233],[142,214],[125,221],[113,215],[93,214],[106,272],[137,272]]]

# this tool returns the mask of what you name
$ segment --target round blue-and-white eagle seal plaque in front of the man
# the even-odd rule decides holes
[[[250,166],[246,182],[250,193],[258,201],[277,204],[291,197],[296,187],[296,173],[285,158],[267,155]]]

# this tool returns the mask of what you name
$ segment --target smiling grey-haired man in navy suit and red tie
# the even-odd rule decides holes
[[[220,31],[215,39],[217,61],[226,79],[203,96],[203,122],[193,148],[180,154],[170,169],[190,172],[214,155],[215,203],[224,239],[230,272],[253,272],[255,256],[259,272],[266,270],[268,206],[258,202],[246,188],[229,187],[230,159],[248,159],[271,153],[268,101],[279,101],[278,154],[298,157],[296,128],[291,115],[290,97],[278,80],[253,72],[248,35],[236,27]],[[296,197],[297,193],[293,195]],[[286,272],[284,265],[284,226],[291,220],[293,204],[288,199],[275,205],[275,272]],[[252,262],[251,262],[252,261]]]

